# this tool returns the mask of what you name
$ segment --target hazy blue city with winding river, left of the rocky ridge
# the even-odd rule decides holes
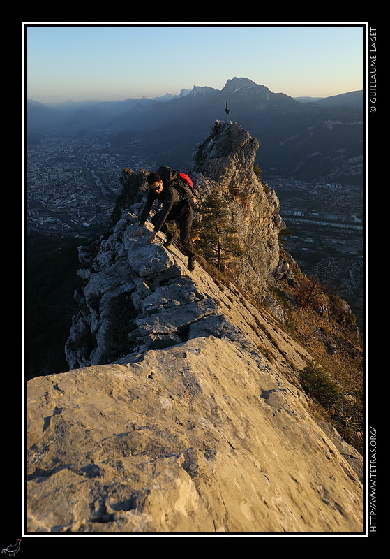
[[[123,168],[152,168],[134,140],[114,147],[100,135],[50,137],[26,150],[27,230],[95,236],[105,230],[121,190]],[[89,231],[91,229],[91,231]]]

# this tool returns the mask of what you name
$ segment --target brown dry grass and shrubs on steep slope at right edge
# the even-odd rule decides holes
[[[309,284],[302,275],[295,286],[283,282],[279,291],[288,301],[290,333],[313,356],[299,373],[301,386],[310,397],[313,414],[332,423],[345,441],[363,453],[364,361],[355,317],[337,296],[318,291],[308,300]],[[318,386],[324,394],[316,392]]]

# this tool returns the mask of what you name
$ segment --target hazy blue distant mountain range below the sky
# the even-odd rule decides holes
[[[280,175],[359,185],[363,184],[363,108],[363,91],[293,99],[248,78],[233,78],[221,90],[194,86],[177,96],[156,99],[53,106],[27,100],[27,140],[31,134],[53,131],[105,131],[112,143],[143,138],[158,165],[190,168],[195,145],[204,140],[216,119],[228,118],[260,140],[256,163],[264,171],[264,180]]]

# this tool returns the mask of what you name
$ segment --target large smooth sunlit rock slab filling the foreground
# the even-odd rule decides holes
[[[29,532],[361,532],[357,474],[259,354],[119,361],[29,381]]]

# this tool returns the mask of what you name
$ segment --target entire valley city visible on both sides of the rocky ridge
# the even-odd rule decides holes
[[[123,168],[155,170],[147,145],[96,136],[52,136],[26,150],[27,233],[97,238],[121,191]],[[167,163],[169,164],[169,162]],[[264,173],[265,175],[265,173]],[[265,177],[280,200],[283,245],[308,276],[338,290],[363,324],[363,189]]]

